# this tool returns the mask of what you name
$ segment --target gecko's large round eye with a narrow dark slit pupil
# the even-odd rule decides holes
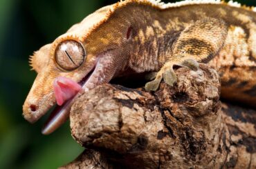
[[[59,43],[55,50],[55,61],[64,70],[75,70],[84,62],[86,52],[82,43],[66,40]]]

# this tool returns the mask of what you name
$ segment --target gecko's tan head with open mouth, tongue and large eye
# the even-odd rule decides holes
[[[120,14],[115,15],[110,8],[90,14],[30,57],[37,77],[23,106],[24,118],[34,123],[56,106],[43,134],[53,132],[68,119],[80,93],[109,82],[125,68],[132,28],[129,23],[113,27]]]

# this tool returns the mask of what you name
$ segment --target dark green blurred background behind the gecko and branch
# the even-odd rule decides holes
[[[33,125],[22,117],[22,105],[36,77],[28,56],[86,15],[115,2],[0,0],[0,168],[57,168],[82,152],[68,122],[44,136],[46,117]],[[255,0],[239,2],[256,6]]]

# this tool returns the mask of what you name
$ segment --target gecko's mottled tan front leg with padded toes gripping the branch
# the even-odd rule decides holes
[[[173,86],[177,81],[174,65],[197,70],[197,61],[207,62],[217,55],[227,33],[228,26],[225,21],[219,19],[204,18],[192,23],[172,44],[172,53],[165,56],[167,62],[157,72],[156,79],[146,83],[145,89],[156,91],[162,79],[169,86]]]

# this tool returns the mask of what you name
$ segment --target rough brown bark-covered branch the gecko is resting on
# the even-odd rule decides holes
[[[85,148],[63,168],[256,168],[256,112],[222,104],[217,72],[176,70],[157,92],[104,84],[71,108]]]

